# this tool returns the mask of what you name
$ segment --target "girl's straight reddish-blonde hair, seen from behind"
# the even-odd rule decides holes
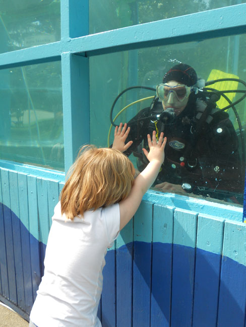
[[[132,189],[135,169],[129,158],[118,150],[84,145],[69,174],[60,204],[61,214],[73,220],[83,216],[86,210],[125,199]]]

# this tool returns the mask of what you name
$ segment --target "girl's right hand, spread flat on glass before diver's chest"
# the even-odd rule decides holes
[[[156,131],[153,131],[152,141],[151,141],[150,134],[148,134],[148,145],[150,151],[148,152],[146,149],[143,149],[143,152],[149,161],[157,160],[160,161],[160,163],[163,163],[165,158],[164,149],[166,146],[166,137],[164,137],[163,139],[164,133],[161,132],[159,141],[157,143],[155,135],[156,135]]]

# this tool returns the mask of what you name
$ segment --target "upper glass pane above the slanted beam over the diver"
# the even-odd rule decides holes
[[[245,3],[245,0],[103,0],[89,2],[90,34]]]

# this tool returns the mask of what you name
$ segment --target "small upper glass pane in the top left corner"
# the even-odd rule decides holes
[[[0,0],[0,53],[60,40],[60,1]]]

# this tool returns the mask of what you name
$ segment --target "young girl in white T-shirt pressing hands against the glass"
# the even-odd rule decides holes
[[[164,161],[166,138],[148,135],[149,165],[134,180],[132,162],[121,151],[129,129],[115,128],[112,148],[83,146],[54,208],[30,325],[100,327],[97,317],[107,248],[137,211]]]

